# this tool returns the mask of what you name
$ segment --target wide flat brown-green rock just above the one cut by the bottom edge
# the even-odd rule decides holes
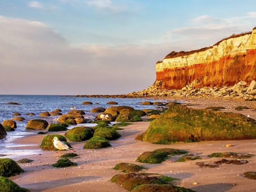
[[[177,178],[167,177],[156,173],[125,173],[117,174],[110,179],[111,182],[122,186],[124,189],[133,188],[145,184],[171,184]]]

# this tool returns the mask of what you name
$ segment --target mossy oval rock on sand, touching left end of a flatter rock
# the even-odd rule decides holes
[[[158,164],[168,159],[164,152],[146,151],[138,156],[137,161],[141,163]]]

